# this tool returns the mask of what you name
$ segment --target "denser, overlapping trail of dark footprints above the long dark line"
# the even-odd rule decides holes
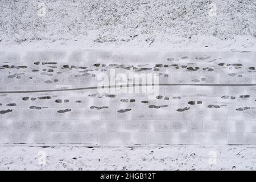
[[[186,56],[184,56],[186,57]],[[208,56],[209,58],[209,56]],[[182,59],[182,57],[181,57]],[[186,58],[187,59],[187,58]],[[205,59],[205,57],[201,57],[200,59]],[[167,59],[168,61],[173,62],[172,59]],[[212,60],[215,61],[215,60]],[[210,61],[209,61],[210,62]],[[38,67],[38,68],[35,68]],[[59,79],[52,78],[53,76],[59,76],[63,73],[72,73],[75,78],[79,77],[96,77],[97,73],[100,72],[107,72],[109,69],[123,69],[124,71],[134,71],[134,72],[158,72],[160,77],[169,77],[166,73],[161,73],[162,68],[164,69],[179,69],[180,71],[184,72],[214,72],[215,70],[220,69],[228,69],[228,70],[237,70],[240,69],[241,72],[256,72],[255,67],[249,66],[243,70],[243,65],[240,63],[214,63],[212,62],[211,65],[208,67],[200,67],[200,63],[171,63],[171,64],[138,64],[138,65],[126,65],[126,64],[93,64],[93,65],[86,65],[86,66],[77,66],[77,65],[68,65],[68,64],[58,64],[56,62],[40,62],[35,61],[32,63],[32,67],[27,65],[10,65],[10,64],[3,64],[0,65],[0,72],[7,71],[9,75],[7,78],[17,79],[20,80],[22,77],[26,77],[28,75],[28,79],[35,80],[36,77],[43,76],[45,84],[54,84],[58,83]],[[38,75],[37,75],[38,74]],[[228,76],[230,77],[243,77],[241,74],[237,73],[229,73]],[[207,78],[194,78],[192,82],[204,82]]]

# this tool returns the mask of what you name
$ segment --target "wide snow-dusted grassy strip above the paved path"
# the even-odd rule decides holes
[[[1,0],[0,11],[1,49],[256,48],[254,0]]]

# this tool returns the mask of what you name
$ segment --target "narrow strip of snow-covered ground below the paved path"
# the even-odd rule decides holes
[[[193,145],[1,146],[0,170],[255,170],[255,150],[253,146]]]

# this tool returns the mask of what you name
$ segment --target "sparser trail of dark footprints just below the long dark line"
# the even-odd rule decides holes
[[[70,101],[67,99],[60,99],[60,98],[55,98],[55,97],[59,97],[59,96],[40,96],[40,97],[23,97],[22,101],[26,102],[26,101],[32,101],[32,102],[36,102],[36,100],[54,100],[55,104],[67,104]],[[115,94],[89,94],[88,97],[92,97],[92,98],[116,98]],[[246,100],[248,98],[250,98],[250,95],[246,94],[246,95],[240,95],[240,96],[222,96],[220,97],[222,100]],[[165,107],[168,107],[168,101],[172,102],[171,100],[180,100],[181,97],[176,96],[176,97],[170,97],[170,96],[156,96],[156,100],[164,100],[166,102],[166,104],[164,105],[152,105],[149,104],[149,101],[147,100],[141,100],[141,104],[143,105],[147,105],[149,109],[163,109]],[[256,101],[256,100],[255,100]],[[81,104],[82,105],[82,101],[80,100],[76,100],[76,101],[72,101],[75,102],[75,104]],[[123,103],[134,103],[136,102],[135,99],[133,98],[122,98],[119,100],[119,102],[123,102]],[[184,105],[184,107],[181,108],[177,108],[176,111],[177,112],[184,112],[187,111],[189,109],[191,109],[191,106],[193,106],[193,108],[196,109],[196,105],[201,105],[203,104],[203,101],[188,101],[187,105]],[[0,103],[0,106],[2,106],[3,104]],[[5,106],[7,107],[13,107],[15,108],[15,106],[17,106],[16,103],[9,103],[9,104],[5,104]],[[216,104],[209,104],[207,105],[208,109],[220,109],[221,107],[225,107],[227,106],[226,104],[220,104],[220,105],[216,105]],[[41,110],[41,109],[47,109],[49,107],[46,106],[36,106],[36,105],[31,105],[28,107],[31,110]],[[101,109],[109,109],[109,106],[90,106],[89,109],[92,110],[101,110]],[[245,106],[245,107],[238,107],[236,110],[237,111],[244,111],[244,110],[248,110],[248,109],[256,109],[256,107],[251,107],[251,106]],[[132,108],[125,108],[125,109],[119,109],[117,110],[117,113],[126,113],[131,111]],[[6,109],[6,110],[1,110],[0,107],[0,114],[6,114],[6,113],[10,113],[11,111],[13,111],[13,109]],[[57,113],[60,114],[64,114],[64,113],[68,113],[72,111],[71,109],[65,108],[65,109],[61,109],[58,110]]]

